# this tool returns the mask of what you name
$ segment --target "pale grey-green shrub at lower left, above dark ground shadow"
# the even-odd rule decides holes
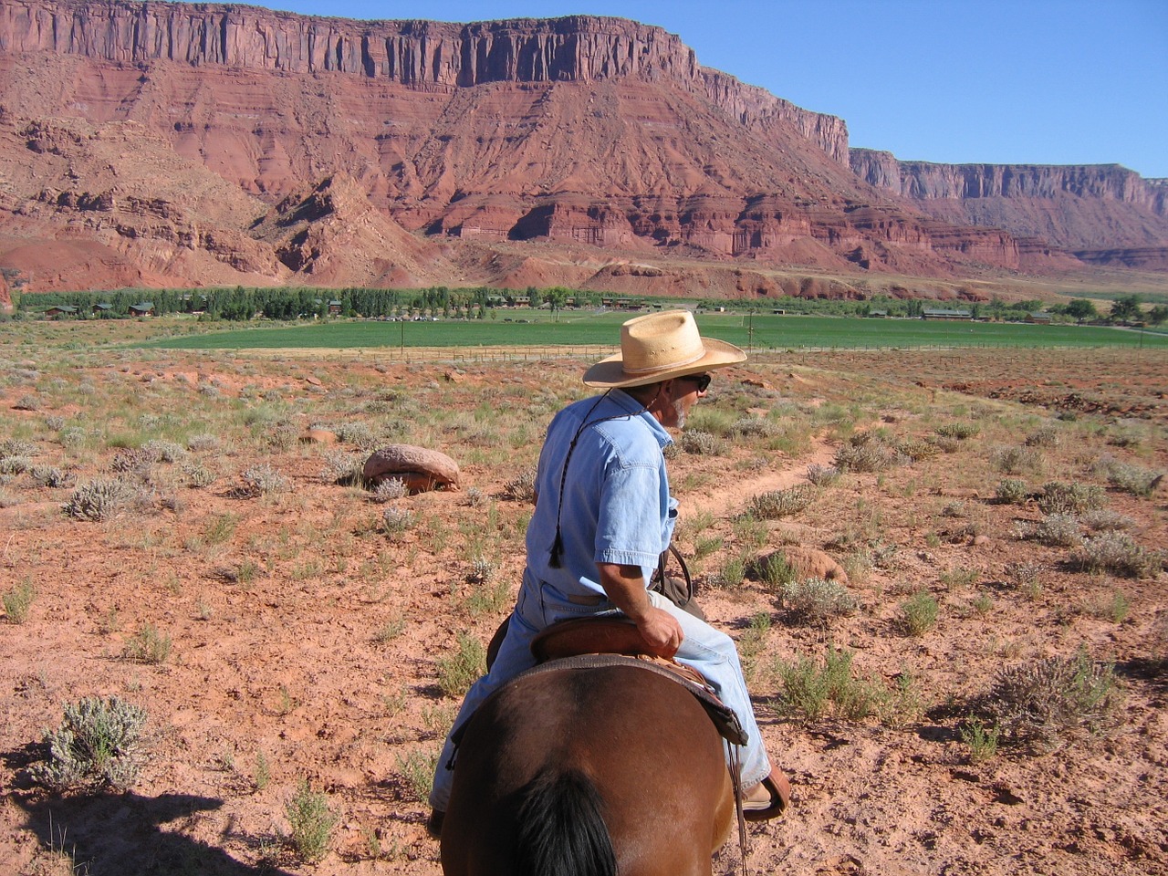
[[[64,719],[47,730],[49,758],[29,777],[53,791],[124,791],[138,780],[146,712],[116,696],[91,697],[64,707]]]

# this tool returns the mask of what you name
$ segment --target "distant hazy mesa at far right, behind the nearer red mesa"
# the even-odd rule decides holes
[[[1146,267],[1157,260],[1149,250],[1168,248],[1168,180],[1145,180],[1120,165],[944,165],[858,148],[850,164],[865,182],[927,214],[1040,237],[1092,263],[1104,263],[1096,250],[1108,253],[1108,264],[1131,250],[1139,260],[1131,266]]]

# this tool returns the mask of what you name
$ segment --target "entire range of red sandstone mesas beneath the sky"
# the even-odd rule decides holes
[[[679,36],[584,15],[0,0],[0,296],[1168,270],[1163,180],[849,148]]]

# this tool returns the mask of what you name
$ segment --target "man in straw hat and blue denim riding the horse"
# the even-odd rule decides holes
[[[667,311],[625,322],[620,353],[588,369],[584,383],[605,391],[568,405],[548,426],[519,598],[452,735],[492,693],[535,665],[537,633],[566,619],[625,617],[647,651],[696,669],[737,715],[748,738],[739,785],[745,818],[783,812],[790,788],[766,756],[734,640],[649,590],[677,516],[662,453],[673,443],[666,430],[684,426],[710,371],[745,360],[738,347],[703,339],[689,311]],[[447,737],[430,794],[434,836],[450,800],[454,753]],[[728,750],[728,758],[737,753]]]

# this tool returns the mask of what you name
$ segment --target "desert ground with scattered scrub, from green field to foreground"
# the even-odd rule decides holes
[[[509,610],[523,475],[588,362],[92,331],[0,331],[0,872],[439,874],[457,659]],[[354,482],[391,443],[458,488]],[[679,445],[676,541],[793,786],[715,874],[1168,874],[1164,352],[760,354]],[[813,575],[837,611],[800,611]],[[800,696],[842,654],[851,698]],[[1072,665],[1090,703],[1037,689]],[[111,696],[146,714],[132,785],[34,780],[63,707]]]

